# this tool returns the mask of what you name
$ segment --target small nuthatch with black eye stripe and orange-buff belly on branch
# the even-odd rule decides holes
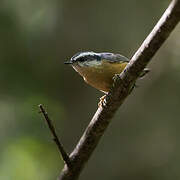
[[[128,62],[129,59],[120,54],[80,52],[65,64],[72,65],[87,84],[108,93],[113,84],[113,77],[120,74]],[[149,70],[144,69],[140,77],[147,72]]]

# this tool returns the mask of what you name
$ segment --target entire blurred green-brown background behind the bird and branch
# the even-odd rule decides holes
[[[68,152],[101,92],[64,61],[78,51],[131,57],[170,1],[1,0],[0,179],[56,179],[63,167],[38,113],[42,103]],[[178,179],[180,26],[119,109],[81,179]]]

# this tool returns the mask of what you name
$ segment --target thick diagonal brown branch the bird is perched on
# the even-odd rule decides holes
[[[125,70],[115,78],[106,96],[77,146],[70,154],[72,167],[64,166],[59,180],[78,179],[85,163],[96,148],[117,109],[129,95],[132,85],[180,21],[180,0],[172,0],[169,7],[132,57]]]

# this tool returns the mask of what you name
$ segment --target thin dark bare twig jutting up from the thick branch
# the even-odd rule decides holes
[[[53,135],[53,140],[56,143],[56,145],[57,145],[57,147],[58,147],[58,149],[59,149],[59,151],[60,151],[60,153],[62,155],[62,158],[63,158],[64,162],[70,168],[71,167],[70,158],[69,158],[68,154],[66,153],[66,151],[64,150],[64,147],[61,144],[61,142],[60,142],[60,140],[59,140],[59,138],[58,138],[58,136],[56,134],[56,130],[55,130],[54,126],[53,126],[52,121],[49,119],[49,116],[48,116],[47,112],[45,111],[42,104],[39,105],[39,108],[40,108],[41,112],[44,115],[44,118],[45,118],[45,120],[46,120],[46,122],[48,124],[48,127],[49,127],[49,129],[50,129],[50,131],[51,131],[51,133]]]

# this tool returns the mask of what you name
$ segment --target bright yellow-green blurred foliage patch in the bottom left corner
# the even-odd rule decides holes
[[[0,179],[4,180],[56,179],[58,166],[63,165],[50,145],[32,137],[9,143],[2,156]]]

